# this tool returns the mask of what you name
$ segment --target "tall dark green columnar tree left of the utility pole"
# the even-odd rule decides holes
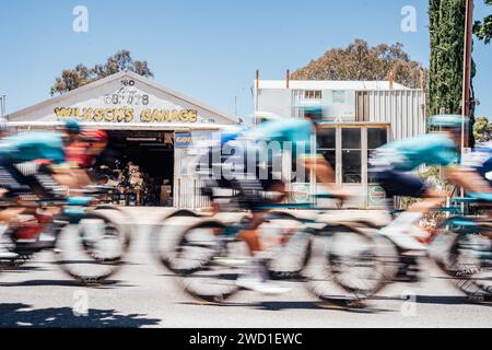
[[[429,69],[429,113],[461,114],[465,0],[429,1],[431,63]],[[472,62],[471,78],[476,74]],[[471,101],[475,100],[471,91]],[[470,104],[473,124],[475,104]],[[473,137],[470,128],[470,145]]]

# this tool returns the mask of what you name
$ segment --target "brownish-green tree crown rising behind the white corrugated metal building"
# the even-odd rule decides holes
[[[347,48],[333,48],[320,58],[292,73],[296,80],[388,80],[394,71],[395,81],[420,88],[420,62],[411,60],[403,45],[380,44],[370,47],[355,39]]]

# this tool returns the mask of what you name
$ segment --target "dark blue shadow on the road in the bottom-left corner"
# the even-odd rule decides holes
[[[87,316],[77,317],[70,307],[30,310],[30,305],[0,304],[1,328],[139,328],[156,326],[157,318],[119,314],[114,310],[89,310]]]

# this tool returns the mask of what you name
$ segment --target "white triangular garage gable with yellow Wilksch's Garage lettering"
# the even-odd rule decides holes
[[[180,93],[131,72],[120,72],[25,108],[10,121],[62,121],[104,124],[235,124]]]

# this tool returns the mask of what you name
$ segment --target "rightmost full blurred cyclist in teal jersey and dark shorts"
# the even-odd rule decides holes
[[[426,247],[409,232],[425,213],[445,201],[445,195],[429,188],[425,183],[411,172],[423,165],[441,165],[444,176],[455,185],[462,186],[469,192],[489,191],[485,182],[476,173],[458,166],[458,144],[461,137],[461,116],[434,116],[429,124],[440,127],[441,132],[433,132],[390,142],[377,149],[371,160],[371,172],[388,198],[409,196],[423,198],[398,215],[380,232],[396,242],[403,250],[424,250]]]

